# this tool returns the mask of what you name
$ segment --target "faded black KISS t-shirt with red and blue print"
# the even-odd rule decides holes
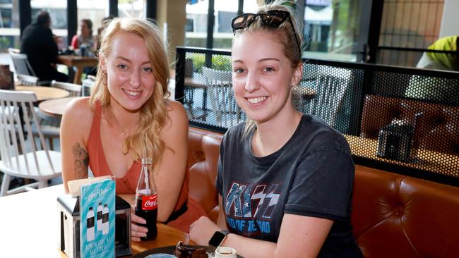
[[[320,118],[302,116],[277,152],[256,157],[251,131],[230,128],[220,146],[216,188],[232,233],[277,242],[284,214],[333,220],[319,257],[362,257],[350,225],[354,163],[345,138]]]

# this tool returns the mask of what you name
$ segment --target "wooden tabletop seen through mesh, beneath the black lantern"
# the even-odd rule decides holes
[[[349,142],[352,155],[354,156],[362,156],[367,159],[383,161],[389,164],[396,164],[400,166],[407,166],[410,168],[422,169],[434,173],[443,173],[441,171],[445,171],[445,168],[447,168],[446,171],[451,171],[451,173],[459,174],[459,167],[457,165],[459,161],[458,155],[435,152],[429,149],[419,148],[417,150],[416,156],[417,162],[404,162],[394,159],[384,159],[380,156],[376,156],[378,140],[366,137],[359,137],[355,135],[344,136],[347,142]]]

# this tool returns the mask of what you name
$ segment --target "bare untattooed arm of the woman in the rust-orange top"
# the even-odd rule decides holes
[[[188,117],[179,102],[169,102],[169,118],[160,137],[165,143],[159,166],[154,176],[158,195],[158,221],[167,221],[177,204],[186,171],[188,152]]]

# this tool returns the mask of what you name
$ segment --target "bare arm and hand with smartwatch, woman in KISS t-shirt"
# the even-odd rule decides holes
[[[232,247],[246,258],[317,257],[332,225],[329,219],[284,214],[277,243],[229,234],[220,245]],[[190,238],[197,245],[208,245],[205,241],[218,230],[210,219],[201,217],[193,223]],[[201,238],[203,235],[207,237]]]

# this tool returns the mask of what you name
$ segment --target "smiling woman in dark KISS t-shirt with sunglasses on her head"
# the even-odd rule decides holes
[[[232,20],[234,98],[249,120],[220,146],[217,224],[201,217],[190,239],[243,257],[362,257],[350,223],[350,147],[321,118],[294,109],[302,30],[283,4]]]

